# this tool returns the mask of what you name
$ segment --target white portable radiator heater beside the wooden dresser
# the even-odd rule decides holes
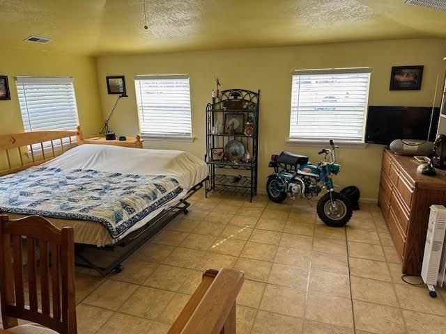
[[[432,298],[437,296],[435,286],[443,286],[446,280],[445,231],[446,207],[431,205],[421,276]]]

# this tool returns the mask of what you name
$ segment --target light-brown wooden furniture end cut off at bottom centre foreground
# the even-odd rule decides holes
[[[236,298],[244,273],[208,269],[167,334],[235,334]]]

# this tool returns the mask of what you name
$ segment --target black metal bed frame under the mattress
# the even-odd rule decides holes
[[[193,186],[192,189],[187,192],[186,197],[180,199],[176,205],[170,207],[169,209],[165,209],[151,221],[148,221],[148,223],[146,223],[144,226],[141,226],[141,228],[138,230],[130,232],[114,245],[98,247],[88,244],[75,244],[75,265],[77,267],[94,269],[95,271],[98,271],[102,277],[107,276],[112,271],[120,273],[124,269],[122,262],[127,260],[130,255],[138,250],[139,247],[144,245],[148,239],[151,239],[151,237],[157,234],[157,232],[160,232],[164,226],[173,221],[174,218],[181,213],[187,214],[187,212],[189,212],[188,208],[190,207],[190,202],[187,202],[187,199],[194,195],[194,193],[197,193],[199,189],[203,188],[203,183],[206,182],[207,179],[208,177]],[[120,253],[118,257],[114,258],[114,260],[109,264],[104,265],[95,263],[95,261],[92,260],[89,255],[86,255],[87,251],[92,248],[114,252],[118,247],[123,249],[123,252]]]

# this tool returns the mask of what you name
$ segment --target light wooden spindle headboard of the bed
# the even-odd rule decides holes
[[[79,126],[75,131],[36,131],[0,135],[0,176],[43,164],[82,144],[83,140]],[[36,149],[36,145],[40,147]]]

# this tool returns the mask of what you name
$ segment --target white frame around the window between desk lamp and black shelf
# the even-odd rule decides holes
[[[139,111],[139,97],[137,90],[137,81],[141,80],[151,80],[151,79],[187,79],[187,83],[189,86],[189,111],[190,111],[190,134],[151,134],[147,132],[143,132],[141,129],[141,112]],[[138,113],[138,126],[139,132],[141,134],[141,138],[150,140],[150,141],[180,141],[180,142],[193,142],[194,134],[193,134],[193,122],[192,122],[192,94],[190,93],[190,76],[189,74],[145,74],[145,75],[136,75],[134,76],[134,88],[135,88],[135,100],[137,103],[137,113]]]

